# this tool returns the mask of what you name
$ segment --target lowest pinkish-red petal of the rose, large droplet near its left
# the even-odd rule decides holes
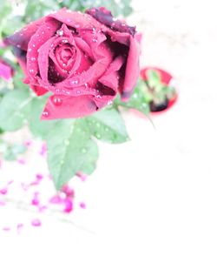
[[[91,96],[58,96],[58,101],[56,101],[56,97],[52,96],[49,98],[41,119],[82,118],[97,110],[97,106]]]

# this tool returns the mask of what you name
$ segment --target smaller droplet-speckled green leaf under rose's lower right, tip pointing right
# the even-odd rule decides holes
[[[95,138],[113,144],[123,143],[128,140],[128,132],[122,115],[115,108],[110,107],[95,112],[86,120],[89,125],[89,131]]]

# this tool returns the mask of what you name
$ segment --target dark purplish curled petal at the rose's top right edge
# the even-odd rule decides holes
[[[135,27],[130,27],[125,22],[115,19],[111,12],[104,7],[91,8],[86,10],[86,13],[94,17],[100,23],[105,24],[112,30],[128,33],[133,37],[135,35]]]

